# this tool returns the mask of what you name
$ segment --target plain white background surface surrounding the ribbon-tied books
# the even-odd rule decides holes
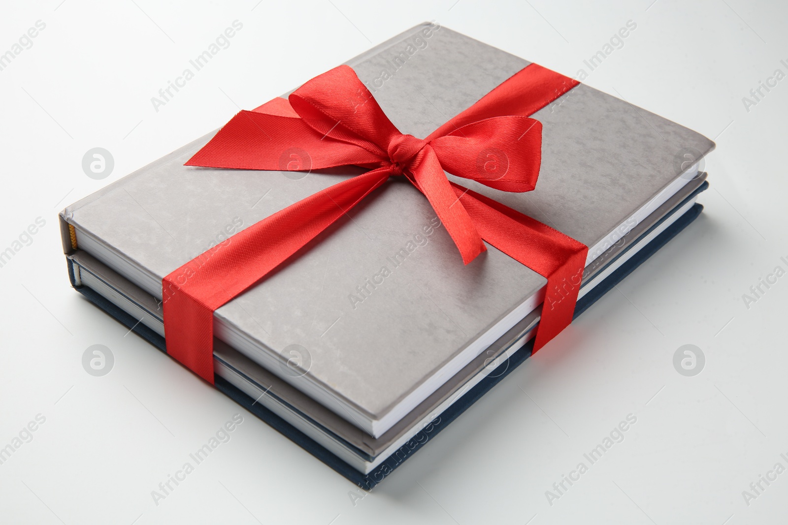
[[[749,309],[742,294],[788,269],[788,79],[749,111],[742,97],[788,73],[788,9],[651,2],[6,2],[0,53],[46,28],[0,71],[0,250],[46,226],[0,268],[0,447],[46,423],[0,465],[0,522],[782,523],[788,473],[749,505],[742,491],[788,468],[788,276]],[[231,46],[156,112],[151,97],[236,19]],[[57,213],[424,20],[568,76],[634,20],[585,82],[715,139],[712,189],[686,231],[359,499],[72,290]],[[96,146],[115,160],[103,180],[81,168]],[[115,357],[109,375],[82,367],[94,344]],[[684,344],[704,352],[700,375],[676,372]],[[155,505],[236,412],[232,440]],[[545,491],[630,413],[623,442],[550,505]]]

